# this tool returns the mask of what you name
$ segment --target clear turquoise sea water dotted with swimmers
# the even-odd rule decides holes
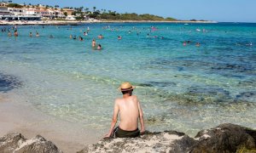
[[[87,27],[89,35],[83,36]],[[134,94],[149,130],[195,134],[223,122],[256,127],[256,24],[86,24],[18,26],[18,31],[16,38],[0,31],[0,92],[12,90],[46,114],[106,130],[113,100],[121,96],[117,88],[128,81],[137,86]],[[104,38],[97,39],[99,34]],[[101,51],[91,48],[93,38]],[[183,46],[184,41],[190,42]]]

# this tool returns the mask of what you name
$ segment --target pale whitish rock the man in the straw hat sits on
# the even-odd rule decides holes
[[[145,133],[141,138],[102,139],[80,150],[87,152],[188,152],[195,140],[184,133],[175,131],[162,133]]]

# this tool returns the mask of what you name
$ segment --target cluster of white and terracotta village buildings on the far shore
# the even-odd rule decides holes
[[[79,10],[75,10],[79,9]],[[58,5],[54,7],[31,3],[17,4],[9,2],[0,2],[0,20],[90,20],[87,17],[91,14],[90,11],[83,12],[83,8],[59,8]],[[75,12],[82,12],[83,14],[76,14]]]

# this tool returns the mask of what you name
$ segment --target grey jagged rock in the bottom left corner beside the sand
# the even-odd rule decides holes
[[[0,152],[3,153],[61,153],[61,150],[50,141],[38,135],[32,139],[25,139],[20,133],[9,133],[0,138]]]

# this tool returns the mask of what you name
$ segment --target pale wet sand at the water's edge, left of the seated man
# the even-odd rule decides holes
[[[96,144],[105,133],[45,115],[15,94],[0,93],[0,125],[0,137],[15,132],[31,139],[39,134],[64,152],[76,152],[87,144]]]

